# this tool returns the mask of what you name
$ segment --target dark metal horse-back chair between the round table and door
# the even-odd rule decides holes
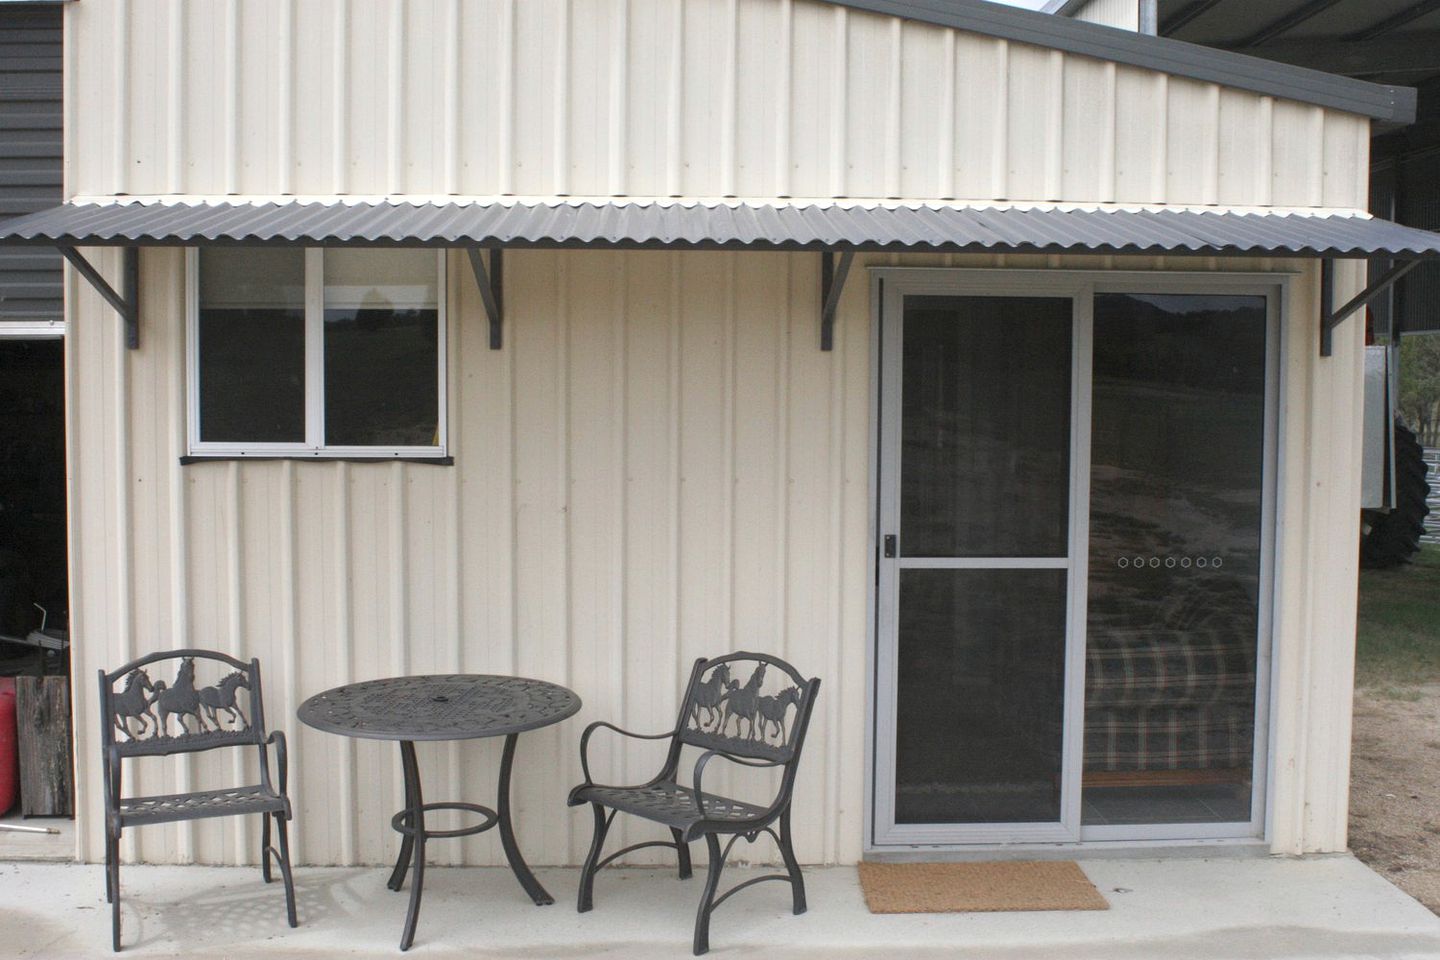
[[[746,665],[749,672],[737,669]],[[647,846],[674,848],[680,855],[680,878],[688,878],[690,842],[703,836],[710,849],[710,872],[696,915],[697,956],[710,948],[710,914],[733,894],[752,884],[768,879],[789,881],[795,913],[805,913],[805,879],[801,877],[801,866],[791,843],[791,793],[818,692],[818,678],[804,679],[785,661],[765,653],[730,653],[696,661],[674,730],[662,734],[635,734],[605,721],[586,727],[580,735],[580,769],[585,771],[585,783],[570,790],[569,799],[570,806],[589,803],[595,812],[595,839],[590,842],[590,853],[585,858],[585,868],[580,872],[579,911],[583,914],[595,905],[595,874],[631,851]],[[590,776],[589,744],[590,737],[602,727],[638,740],[668,738],[670,751],[660,773],[647,783],[635,786],[595,783]],[[683,786],[678,780],[680,751],[685,746],[704,751],[696,760],[690,786]],[[706,793],[701,779],[706,766],[716,757],[746,767],[780,767],[783,773],[775,799],[760,806]],[[670,828],[674,839],[634,843],[602,859],[605,835],[615,815],[621,812]],[[779,833],[773,829],[775,823],[779,823]],[[747,879],[716,897],[720,872],[736,841],[743,836],[753,843],[760,833],[769,833],[779,845],[785,872]],[[720,846],[721,835],[730,836],[724,848]]]

